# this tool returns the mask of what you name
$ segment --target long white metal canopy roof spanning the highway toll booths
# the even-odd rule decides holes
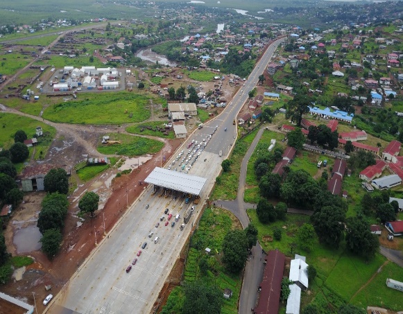
[[[187,175],[178,171],[155,167],[144,182],[163,186],[167,189],[181,191],[193,195],[200,195],[207,179],[196,175]]]

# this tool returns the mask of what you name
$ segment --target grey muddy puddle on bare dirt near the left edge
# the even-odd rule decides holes
[[[24,228],[17,229],[12,242],[17,248],[17,254],[40,250],[40,233],[36,225],[28,225]]]

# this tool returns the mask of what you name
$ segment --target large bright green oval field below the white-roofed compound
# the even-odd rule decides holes
[[[78,96],[76,100],[46,108],[43,117],[59,123],[119,124],[141,122],[151,116],[147,107],[149,99],[147,96],[124,91],[108,94],[85,94]],[[128,111],[127,114],[125,114],[125,110]]]

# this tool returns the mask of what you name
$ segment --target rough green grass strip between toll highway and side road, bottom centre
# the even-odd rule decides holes
[[[231,229],[239,229],[240,225],[232,213],[223,209],[205,209],[198,229],[191,238],[191,247],[186,259],[185,282],[201,280],[207,285],[218,286],[224,290],[230,288],[232,297],[224,299],[221,313],[238,313],[238,299],[241,292],[241,275],[228,274],[221,264],[221,245],[223,238]],[[205,247],[209,247],[212,252],[209,255],[209,270],[207,274],[200,273],[199,261],[205,255]],[[220,255],[216,254],[219,252]],[[168,302],[162,313],[181,313],[183,302],[182,287],[175,288],[175,292],[169,295]]]

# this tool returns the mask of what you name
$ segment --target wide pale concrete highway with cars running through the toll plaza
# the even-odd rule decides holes
[[[207,195],[214,186],[216,176],[221,171],[221,162],[229,154],[232,143],[237,137],[237,128],[233,125],[233,120],[237,119],[239,110],[248,99],[248,91],[256,85],[259,75],[266,68],[277,44],[281,41],[277,40],[267,49],[245,85],[234,96],[232,105],[227,105],[216,119],[209,121],[203,128],[191,134],[182,148],[179,148],[172,159],[166,163],[166,167],[171,165],[173,169],[178,168],[179,171],[179,161],[175,161],[172,165],[179,152],[184,150],[186,153],[189,150],[187,145],[192,139],[203,142],[203,139],[212,135],[211,139],[207,140],[205,150],[200,153],[200,157],[189,170],[189,174],[205,177],[207,182],[202,189],[200,203],[196,205],[195,212],[185,229],[180,230],[179,227],[183,222],[183,214],[192,204],[185,204],[182,197],[164,198],[164,195],[160,196],[159,193],[153,194],[153,186],[148,186],[139,199],[130,204],[130,208],[119,223],[108,236],[103,238],[60,293],[55,296],[45,313],[74,313],[75,311],[112,314],[153,311],[166,277],[189,236],[191,224],[200,215]],[[191,147],[194,149],[194,146]],[[222,151],[222,157],[218,155],[220,151]],[[166,208],[173,216],[180,213],[181,218],[174,227],[171,227],[173,218],[169,225],[164,225],[166,221],[164,209]],[[164,221],[160,221],[161,216],[165,217]],[[157,223],[160,225],[155,227]],[[148,238],[151,231],[154,234]],[[155,244],[153,239],[156,236],[160,237],[160,241]],[[147,245],[142,250],[141,246],[144,242],[147,242]],[[136,256],[139,250],[142,250],[142,254]],[[126,272],[126,268],[135,258],[137,263],[132,266],[130,272]]]

